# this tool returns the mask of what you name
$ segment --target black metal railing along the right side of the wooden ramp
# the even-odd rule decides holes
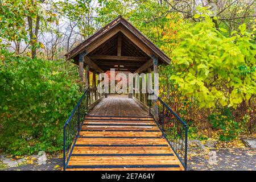
[[[159,97],[148,101],[150,115],[168,140],[184,169],[187,170],[188,127],[186,123]]]

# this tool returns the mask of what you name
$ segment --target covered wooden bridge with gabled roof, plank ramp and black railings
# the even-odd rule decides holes
[[[158,73],[168,56],[122,16],[66,56],[85,92],[64,125],[64,170],[186,169],[187,126],[160,98],[97,92],[97,74]]]

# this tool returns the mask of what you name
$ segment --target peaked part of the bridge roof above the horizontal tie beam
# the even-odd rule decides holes
[[[118,16],[73,48],[65,55],[66,59],[74,59],[76,62],[84,51],[91,56],[114,55],[117,35],[122,36],[122,56],[141,56],[147,59],[146,57],[154,55],[160,63],[170,64],[170,58],[122,16]]]

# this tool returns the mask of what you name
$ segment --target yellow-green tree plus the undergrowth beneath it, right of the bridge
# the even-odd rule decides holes
[[[200,22],[177,27],[179,44],[171,53],[173,65],[160,67],[163,96],[189,123],[191,138],[216,135],[232,140],[254,133],[254,35],[242,24],[227,37],[226,30],[217,29],[209,15],[195,17],[199,16]]]

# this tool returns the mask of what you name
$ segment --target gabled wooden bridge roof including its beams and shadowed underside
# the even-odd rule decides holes
[[[152,67],[152,55],[158,57],[159,64],[170,64],[170,58],[122,16],[115,18],[65,56],[78,64],[81,53],[84,53],[84,61],[90,65],[90,69],[97,72],[106,72],[110,68],[142,72]]]

